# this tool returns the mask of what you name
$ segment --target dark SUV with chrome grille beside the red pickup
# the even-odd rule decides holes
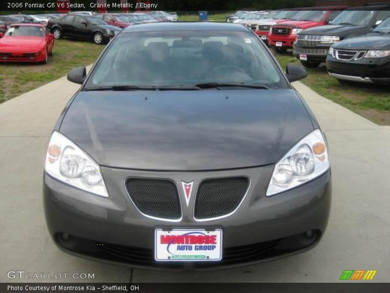
[[[331,44],[365,35],[390,16],[390,5],[366,5],[344,10],[331,24],[306,29],[293,43],[293,54],[302,65],[317,67],[325,62]]]

